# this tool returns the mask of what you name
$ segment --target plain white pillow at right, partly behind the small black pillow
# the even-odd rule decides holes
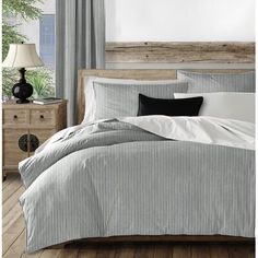
[[[203,96],[200,116],[236,119],[255,124],[255,93],[175,93],[175,98]]]

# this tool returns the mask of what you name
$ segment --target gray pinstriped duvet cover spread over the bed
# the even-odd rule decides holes
[[[161,140],[121,122],[77,136],[59,145],[64,155],[52,144],[23,167],[25,179],[47,164],[20,198],[28,251],[114,235],[254,237],[254,151]]]

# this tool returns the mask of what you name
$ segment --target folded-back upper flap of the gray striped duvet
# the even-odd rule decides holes
[[[117,120],[75,126],[51,137],[34,156],[20,162],[19,171],[27,188],[45,169],[73,152],[122,142],[157,140],[165,139]]]

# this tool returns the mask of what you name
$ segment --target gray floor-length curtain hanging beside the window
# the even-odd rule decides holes
[[[95,68],[105,68],[104,0],[57,0],[56,95],[69,101],[69,126],[77,121],[78,70]]]

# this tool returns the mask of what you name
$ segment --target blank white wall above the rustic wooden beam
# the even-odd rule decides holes
[[[254,42],[255,0],[106,0],[107,42]]]

